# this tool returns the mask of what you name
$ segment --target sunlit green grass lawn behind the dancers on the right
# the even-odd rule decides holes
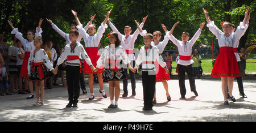
[[[214,58],[216,59],[216,58]],[[203,68],[203,73],[204,74],[210,74],[212,72],[212,58],[211,57],[206,57],[201,59],[202,63],[201,66]],[[172,62],[172,67],[176,67],[177,63],[175,61]],[[172,69],[172,74],[177,75],[175,72],[176,69]],[[255,55],[250,55],[249,58],[246,59],[246,70],[245,73],[254,73],[256,72],[256,56]]]

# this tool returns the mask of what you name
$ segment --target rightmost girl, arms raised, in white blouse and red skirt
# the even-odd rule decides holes
[[[224,22],[222,24],[222,32],[216,27],[213,21],[210,21],[208,12],[204,10],[204,8],[203,11],[205,14],[205,18],[207,19],[207,27],[209,27],[209,30],[213,33],[213,35],[218,38],[218,45],[220,46],[220,54],[218,54],[218,57],[216,58],[212,73],[210,75],[215,78],[221,77],[221,88],[224,96],[224,105],[229,105],[227,98],[228,89],[229,96],[231,97],[232,101],[235,102],[236,99],[234,98],[234,96],[232,96],[233,82],[234,77],[240,76],[237,59],[233,53],[233,42],[234,40],[236,40],[237,34],[239,34],[239,32],[231,34],[232,32],[230,31],[232,29],[230,28],[229,22]],[[245,19],[243,20],[243,26],[245,26],[246,24],[248,12],[249,8],[248,10],[246,10]]]

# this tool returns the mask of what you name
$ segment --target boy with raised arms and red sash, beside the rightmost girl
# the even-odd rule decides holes
[[[189,40],[189,33],[183,32],[181,35],[182,41],[179,41],[174,36],[172,36],[172,32],[174,32],[176,25],[179,23],[180,22],[177,22],[174,24],[171,31],[169,32],[169,35],[170,35],[170,40],[177,46],[179,50],[179,55],[180,55],[179,61],[177,61],[177,64],[178,64],[177,66],[179,67],[180,95],[181,95],[181,98],[185,98],[185,95],[186,95],[185,72],[187,72],[191,91],[194,92],[196,96],[198,96],[198,93],[196,91],[195,78],[193,77],[193,72],[192,72],[193,60],[191,59],[191,53],[192,53],[192,46],[195,44],[196,40],[199,38],[205,22],[200,24],[200,28],[197,30],[197,32],[191,38],[191,40]]]

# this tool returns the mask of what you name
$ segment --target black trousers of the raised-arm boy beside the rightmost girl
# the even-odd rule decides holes
[[[195,84],[195,78],[193,77],[193,70],[192,65],[183,66],[179,65],[179,86],[180,86],[180,95],[185,96],[186,95],[186,87],[185,87],[185,72],[187,72],[190,89],[191,91],[196,91],[196,84]]]

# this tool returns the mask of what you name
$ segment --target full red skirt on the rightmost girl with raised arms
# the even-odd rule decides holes
[[[228,76],[231,78],[240,76],[237,59],[233,53],[232,47],[224,46],[220,48],[220,54],[218,54],[218,57],[216,58],[210,76],[213,76],[214,78],[220,76]]]

